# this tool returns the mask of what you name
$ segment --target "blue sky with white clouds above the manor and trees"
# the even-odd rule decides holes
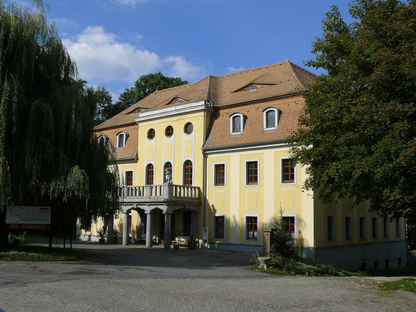
[[[105,85],[113,101],[159,70],[194,82],[286,59],[302,66],[331,5],[351,22],[349,0],[44,1],[80,78]]]

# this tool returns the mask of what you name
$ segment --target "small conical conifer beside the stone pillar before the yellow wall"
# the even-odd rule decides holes
[[[273,245],[270,246],[270,251],[285,258],[293,258],[296,255],[295,246],[292,235],[286,230],[281,207],[278,213],[279,220],[275,220],[277,230],[273,233]]]

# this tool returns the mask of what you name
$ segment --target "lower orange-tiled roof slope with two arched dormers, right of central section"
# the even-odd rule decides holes
[[[262,143],[284,140],[299,124],[299,117],[304,114],[305,100],[302,96],[268,101],[261,104],[248,104],[230,109],[215,111],[208,129],[208,139],[204,149],[219,148],[240,144]],[[277,130],[263,131],[263,109],[273,106],[282,110]],[[243,134],[230,136],[230,114],[239,112],[247,115]]]

